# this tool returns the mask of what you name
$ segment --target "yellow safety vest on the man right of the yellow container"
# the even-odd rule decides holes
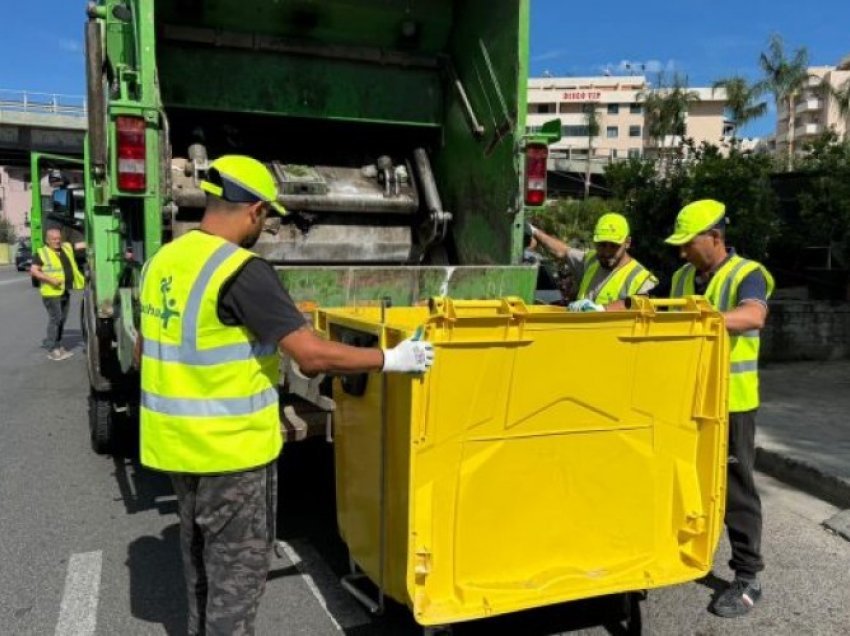
[[[738,303],[738,287],[748,275],[760,270],[767,282],[767,297],[773,294],[773,276],[762,265],[755,261],[732,255],[721,267],[708,284],[705,298],[717,311],[730,311]],[[692,296],[695,292],[694,279],[696,268],[685,265],[673,274],[673,298]],[[740,413],[751,411],[759,406],[759,331],[753,329],[730,338],[730,369],[729,369],[729,411]]]

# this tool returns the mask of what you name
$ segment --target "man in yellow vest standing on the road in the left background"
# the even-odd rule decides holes
[[[71,290],[82,289],[85,278],[77,267],[74,247],[62,242],[62,233],[57,228],[49,228],[44,235],[44,245],[33,255],[30,276],[39,282],[41,300],[47,309],[47,349],[48,360],[59,362],[67,360],[73,354],[62,346],[62,333],[68,320],[71,305]],[[78,244],[77,249],[85,247]]]

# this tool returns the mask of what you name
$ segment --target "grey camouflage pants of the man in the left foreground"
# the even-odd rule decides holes
[[[277,464],[172,474],[192,636],[250,636],[275,537]]]

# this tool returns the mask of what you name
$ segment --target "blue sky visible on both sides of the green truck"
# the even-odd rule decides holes
[[[418,0],[422,1],[422,0]],[[493,0],[511,2],[515,0]],[[812,65],[850,54],[848,0],[531,1],[531,74],[601,75],[643,64],[679,72],[691,86],[741,74],[758,79],[771,33]],[[0,98],[4,89],[83,95],[85,0],[0,0]],[[772,131],[775,113],[748,126]]]

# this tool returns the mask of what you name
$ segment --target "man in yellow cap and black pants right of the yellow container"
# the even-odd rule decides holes
[[[718,616],[743,616],[761,598],[761,500],[753,480],[756,411],[759,406],[759,332],[773,293],[770,272],[726,248],[726,206],[703,199],[686,205],[667,243],[687,264],[671,282],[671,296],[700,295],[722,312],[731,336],[729,375],[729,461],[726,528],[732,545],[732,584],[712,603]]]

